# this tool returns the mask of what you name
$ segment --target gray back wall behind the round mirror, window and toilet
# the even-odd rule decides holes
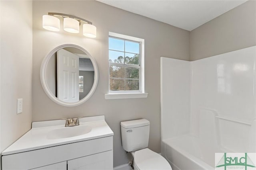
[[[92,21],[97,38],[51,32],[42,28],[42,15],[48,12],[70,14]],[[148,98],[105,100],[108,93],[108,32],[145,39],[145,92]],[[99,82],[94,95],[76,107],[60,106],[44,93],[40,83],[43,58],[56,46],[80,45],[95,59]],[[121,145],[120,121],[146,118],[150,121],[149,148],[160,152],[160,57],[189,60],[189,31],[132,14],[96,1],[33,1],[33,121],[62,117],[105,115],[114,131],[114,166],[126,164]],[[46,107],[47,106],[47,107]]]

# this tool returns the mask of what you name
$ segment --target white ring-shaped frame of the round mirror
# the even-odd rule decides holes
[[[48,87],[48,85],[46,83],[46,80],[45,80],[46,66],[47,66],[50,58],[52,57],[52,55],[54,53],[56,53],[56,51],[58,51],[62,48],[65,48],[65,47],[76,47],[76,48],[80,49],[81,51],[83,51],[91,59],[92,65],[94,67],[94,83],[92,85],[92,89],[87,94],[87,96],[85,96],[82,100],[79,100],[78,102],[74,102],[74,103],[62,102],[61,100],[56,98],[56,96],[54,96],[52,94],[52,92],[49,90],[50,88]],[[48,55],[46,55],[46,57],[42,61],[41,69],[40,69],[40,79],[41,79],[41,84],[42,84],[42,87],[44,89],[44,92],[47,94],[47,96],[52,101],[54,101],[55,103],[60,104],[62,106],[78,106],[78,105],[86,102],[92,96],[92,94],[94,94],[94,92],[97,88],[97,85],[98,85],[99,71],[98,71],[98,66],[97,66],[96,60],[90,55],[90,53],[88,53],[88,51],[86,51],[84,48],[82,48],[78,45],[75,45],[75,44],[63,44],[63,45],[60,45],[60,46],[54,48],[52,51],[50,51],[50,53],[48,53]]]

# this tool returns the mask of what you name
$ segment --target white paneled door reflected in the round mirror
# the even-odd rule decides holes
[[[57,97],[63,102],[79,101],[79,57],[69,51],[57,51]]]

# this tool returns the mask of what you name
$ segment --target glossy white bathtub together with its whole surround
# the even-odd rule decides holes
[[[161,58],[162,155],[180,169],[208,169],[215,152],[256,152],[256,46],[183,63]],[[189,85],[177,86],[185,79]],[[179,106],[186,87],[190,104]]]

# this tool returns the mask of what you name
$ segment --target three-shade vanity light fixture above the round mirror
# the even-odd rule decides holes
[[[48,12],[43,16],[43,28],[50,31],[60,31],[60,19],[63,18],[63,29],[70,33],[79,33],[79,25],[83,24],[83,35],[90,38],[97,36],[96,27],[92,22],[68,14]]]

